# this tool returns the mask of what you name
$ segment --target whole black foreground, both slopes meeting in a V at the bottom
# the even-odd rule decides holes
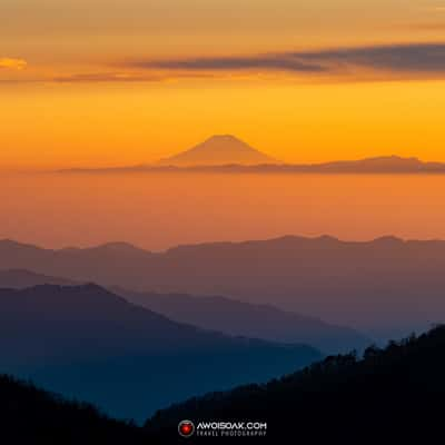
[[[29,383],[0,375],[0,425],[11,444],[178,443],[178,424],[224,422],[222,429],[188,443],[228,441],[235,423],[266,423],[261,443],[434,443],[442,434],[445,395],[445,328],[369,347],[363,359],[330,356],[304,370],[230,392],[209,393],[158,411],[145,428],[106,417],[87,403],[69,402]],[[222,426],[220,426],[222,427]],[[199,428],[199,429],[198,429]],[[255,433],[255,431],[254,431]],[[366,437],[366,438],[365,438]],[[383,441],[383,437],[385,439]],[[244,436],[243,441],[249,441]],[[184,439],[181,439],[184,442]]]

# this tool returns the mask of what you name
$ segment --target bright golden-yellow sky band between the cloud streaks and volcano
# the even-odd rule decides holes
[[[234,134],[288,162],[387,155],[445,161],[443,81],[28,88],[7,93],[13,100],[6,99],[2,145],[14,149],[0,152],[4,167],[151,162],[214,134]]]

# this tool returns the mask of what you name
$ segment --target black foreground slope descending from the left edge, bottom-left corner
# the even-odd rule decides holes
[[[147,444],[144,432],[0,375],[0,437],[4,444]]]

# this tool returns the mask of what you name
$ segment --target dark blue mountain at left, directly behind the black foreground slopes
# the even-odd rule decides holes
[[[0,289],[1,372],[121,418],[320,356],[175,323],[96,285]]]

